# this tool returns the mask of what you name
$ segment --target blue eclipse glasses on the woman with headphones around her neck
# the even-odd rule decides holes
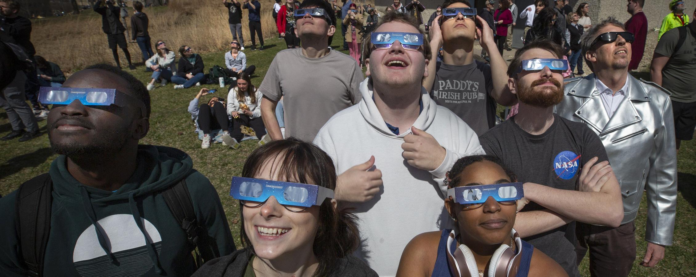
[[[514,205],[516,200],[524,197],[524,189],[522,182],[453,187],[447,190],[447,197],[468,209],[480,207],[489,197],[503,205]]]

